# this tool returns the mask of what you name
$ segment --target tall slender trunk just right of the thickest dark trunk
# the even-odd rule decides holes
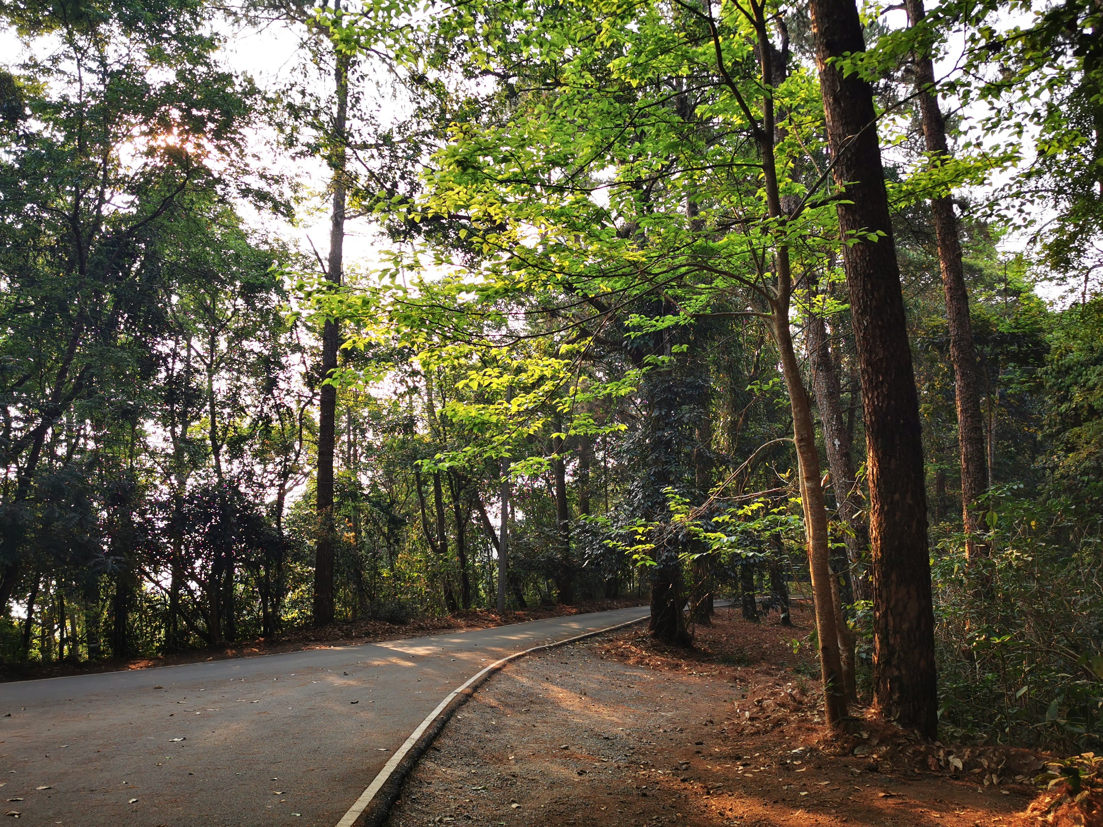
[[[911,25],[924,17],[923,0],[906,0]],[[923,138],[927,151],[935,164],[944,163],[950,151],[946,144],[946,123],[939,109],[934,90],[934,64],[930,52],[915,54],[915,90],[923,119]],[[934,237],[939,247],[939,269],[946,296],[946,323],[950,327],[950,361],[954,366],[954,401],[957,407],[957,445],[961,455],[962,519],[965,525],[965,556],[987,555],[987,547],[977,537],[983,531],[981,497],[987,491],[984,450],[984,426],[981,414],[981,379],[977,368],[976,345],[970,321],[968,291],[962,267],[961,237],[957,217],[950,194],[931,201],[934,218]]]

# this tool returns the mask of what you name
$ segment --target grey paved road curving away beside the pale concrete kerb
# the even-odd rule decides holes
[[[480,668],[646,614],[0,685],[0,813],[35,826],[333,827]]]

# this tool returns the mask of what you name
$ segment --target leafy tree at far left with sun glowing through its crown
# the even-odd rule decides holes
[[[84,418],[142,387],[165,324],[158,234],[190,194],[238,190],[256,90],[213,60],[208,10],[190,0],[3,15],[29,45],[56,39],[47,56],[32,49],[20,75],[4,74],[0,223],[13,326],[0,346],[21,365],[0,379],[2,461],[15,479],[0,547],[7,605],[22,571],[22,515],[60,448],[52,438],[77,409]]]

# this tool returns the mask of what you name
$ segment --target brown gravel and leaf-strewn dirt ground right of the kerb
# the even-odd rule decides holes
[[[632,627],[511,665],[446,727],[390,827],[1025,824],[1021,755],[863,719],[823,741],[818,681],[789,643],[811,617],[794,621],[722,609],[689,657]]]

